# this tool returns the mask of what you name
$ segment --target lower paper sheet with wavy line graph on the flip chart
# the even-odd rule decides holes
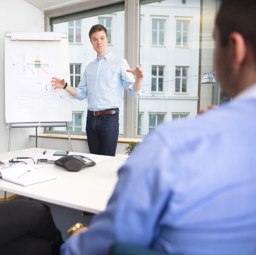
[[[20,79],[19,108],[58,107],[58,92],[49,80]]]

